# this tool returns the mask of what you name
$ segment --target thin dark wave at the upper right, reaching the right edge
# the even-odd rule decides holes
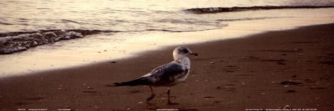
[[[195,14],[217,13],[217,12],[239,12],[248,10],[271,10],[289,8],[334,8],[334,6],[250,6],[250,7],[218,7],[218,8],[190,8],[184,11]]]

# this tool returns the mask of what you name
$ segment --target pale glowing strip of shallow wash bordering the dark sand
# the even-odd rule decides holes
[[[138,53],[164,49],[174,45],[200,44],[216,40],[247,37],[270,31],[285,31],[300,26],[334,23],[332,13],[334,8],[326,10],[259,10],[259,15],[277,12],[278,18],[251,19],[234,22],[219,22],[220,29],[183,33],[166,33],[152,31],[150,33],[115,33],[87,35],[77,40],[54,42],[36,46],[27,51],[0,55],[0,78],[6,76],[20,76],[40,71],[66,69],[95,64],[107,60],[132,58]],[[249,12],[240,12],[250,14]],[[223,16],[217,13],[218,16]],[[289,17],[290,15],[305,15],[305,17]],[[257,18],[257,17],[255,17]],[[261,18],[261,17],[260,17]],[[270,24],[268,24],[270,23]],[[35,60],[38,57],[38,60]],[[15,65],[12,67],[11,65]]]

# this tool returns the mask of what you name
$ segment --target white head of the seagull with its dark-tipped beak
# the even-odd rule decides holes
[[[184,58],[188,55],[198,56],[197,53],[193,53],[189,48],[186,48],[184,46],[179,46],[174,49],[173,51],[173,57],[174,60],[179,60],[181,58]]]

